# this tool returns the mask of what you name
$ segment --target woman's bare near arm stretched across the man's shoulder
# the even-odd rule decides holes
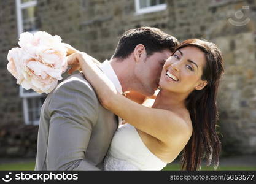
[[[145,107],[125,98],[117,92],[113,83],[93,63],[90,56],[85,53],[76,53],[72,57],[69,62],[79,62],[83,74],[106,109],[163,143],[170,145],[177,141],[187,142],[191,131],[181,117],[171,111]]]

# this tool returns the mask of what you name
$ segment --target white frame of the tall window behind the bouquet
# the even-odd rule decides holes
[[[28,1],[28,2],[23,2],[21,3],[21,0],[16,0],[16,14],[17,14],[17,27],[18,27],[18,37],[20,36],[21,33],[23,33],[23,18],[22,18],[22,10],[26,9],[31,6],[36,6],[37,5],[37,0],[34,1]],[[31,33],[36,32],[37,30],[31,31]],[[33,125],[38,125],[39,120],[34,120],[34,121],[29,121],[29,108],[28,108],[28,98],[41,98],[43,95],[36,93],[36,92],[24,92],[24,88],[20,86],[19,89],[19,96],[23,99],[23,116],[24,116],[24,121],[25,124],[33,124]]]

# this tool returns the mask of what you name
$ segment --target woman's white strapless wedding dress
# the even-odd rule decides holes
[[[104,170],[161,170],[165,166],[128,123],[117,129],[104,159]]]

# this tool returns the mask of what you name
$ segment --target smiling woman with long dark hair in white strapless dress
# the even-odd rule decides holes
[[[163,66],[152,108],[117,93],[86,53],[72,53],[68,63],[69,73],[79,66],[101,104],[128,122],[115,132],[105,170],[161,170],[180,153],[182,169],[198,169],[203,158],[218,166],[216,96],[223,59],[215,44],[189,39],[176,48]]]

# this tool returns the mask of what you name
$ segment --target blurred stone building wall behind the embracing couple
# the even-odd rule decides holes
[[[166,10],[142,15],[136,15],[133,0],[37,2],[42,31],[60,35],[99,61],[111,58],[124,31],[139,26],[156,26],[180,41],[197,37],[215,42],[226,70],[218,98],[223,151],[256,153],[256,0],[168,0]],[[17,45],[15,1],[0,1],[0,9],[0,119],[21,123],[18,86],[6,71],[7,50]],[[249,23],[232,25],[228,18],[241,9]]]

